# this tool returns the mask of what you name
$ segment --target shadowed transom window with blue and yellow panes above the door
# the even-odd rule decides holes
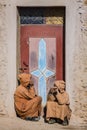
[[[64,7],[18,7],[20,24],[63,24]]]

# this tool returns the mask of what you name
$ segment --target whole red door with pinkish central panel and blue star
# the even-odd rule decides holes
[[[55,79],[63,79],[63,26],[21,26],[21,68],[32,74],[43,103]]]

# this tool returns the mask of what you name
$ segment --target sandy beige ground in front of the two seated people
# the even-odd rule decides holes
[[[39,122],[31,122],[16,117],[0,117],[0,130],[87,130],[87,126],[47,124],[43,118]]]

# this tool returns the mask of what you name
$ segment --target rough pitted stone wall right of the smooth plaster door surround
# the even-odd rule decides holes
[[[87,122],[87,6],[77,0],[76,45],[73,54],[73,114],[80,124]],[[76,120],[75,120],[76,122]]]

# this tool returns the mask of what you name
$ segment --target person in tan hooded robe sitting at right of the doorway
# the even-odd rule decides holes
[[[69,107],[69,95],[65,91],[65,82],[55,81],[54,87],[50,89],[46,104],[46,121],[49,124],[58,122],[68,125],[71,109]]]

